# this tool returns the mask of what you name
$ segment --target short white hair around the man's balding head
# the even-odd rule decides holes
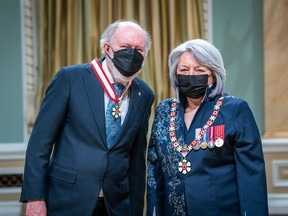
[[[106,30],[102,33],[101,35],[101,39],[100,39],[100,47],[101,47],[101,52],[102,54],[105,54],[105,51],[104,51],[104,44],[107,42],[109,44],[112,44],[112,39],[113,39],[113,36],[114,36],[114,33],[115,31],[117,30],[117,28],[119,27],[119,24],[122,23],[122,22],[131,22],[131,23],[134,23],[136,25],[138,25],[142,30],[143,30],[143,33],[145,35],[145,55],[148,53],[148,51],[150,50],[151,48],[151,36],[150,34],[142,27],[139,25],[138,22],[136,22],[135,20],[118,20],[112,24],[110,24]]]

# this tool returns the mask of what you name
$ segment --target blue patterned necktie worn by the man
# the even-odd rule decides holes
[[[117,96],[120,97],[120,95],[124,89],[124,85],[114,83],[113,87],[117,93]],[[116,135],[117,135],[117,133],[121,127],[121,116],[120,116],[121,114],[119,114],[119,112],[120,112],[119,109],[120,109],[119,104],[115,103],[110,98],[109,102],[108,102],[107,111],[106,111],[106,118],[105,118],[106,119],[105,120],[106,138],[107,138],[108,148],[110,148],[112,146],[112,144],[114,143],[115,137],[116,137]]]

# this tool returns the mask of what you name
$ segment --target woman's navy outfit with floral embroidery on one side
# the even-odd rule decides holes
[[[190,144],[211,117],[219,96],[206,97],[190,128],[184,122],[184,103],[177,103],[173,119],[180,146]],[[261,137],[248,104],[225,95],[219,114],[200,143],[192,149],[191,171],[181,172],[183,160],[171,141],[171,105],[157,107],[148,149],[147,215],[267,216],[267,190]],[[222,142],[218,146],[217,139]]]

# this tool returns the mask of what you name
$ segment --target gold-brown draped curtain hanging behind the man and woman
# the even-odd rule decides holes
[[[152,46],[140,77],[158,103],[174,96],[168,55],[179,43],[205,38],[204,0],[41,0],[37,2],[39,74],[36,110],[52,77],[65,65],[101,56],[101,33],[117,19],[134,19],[151,35]]]

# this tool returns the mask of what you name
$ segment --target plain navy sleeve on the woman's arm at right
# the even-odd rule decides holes
[[[234,156],[241,215],[267,216],[267,188],[261,137],[248,104],[239,100],[233,110]]]

